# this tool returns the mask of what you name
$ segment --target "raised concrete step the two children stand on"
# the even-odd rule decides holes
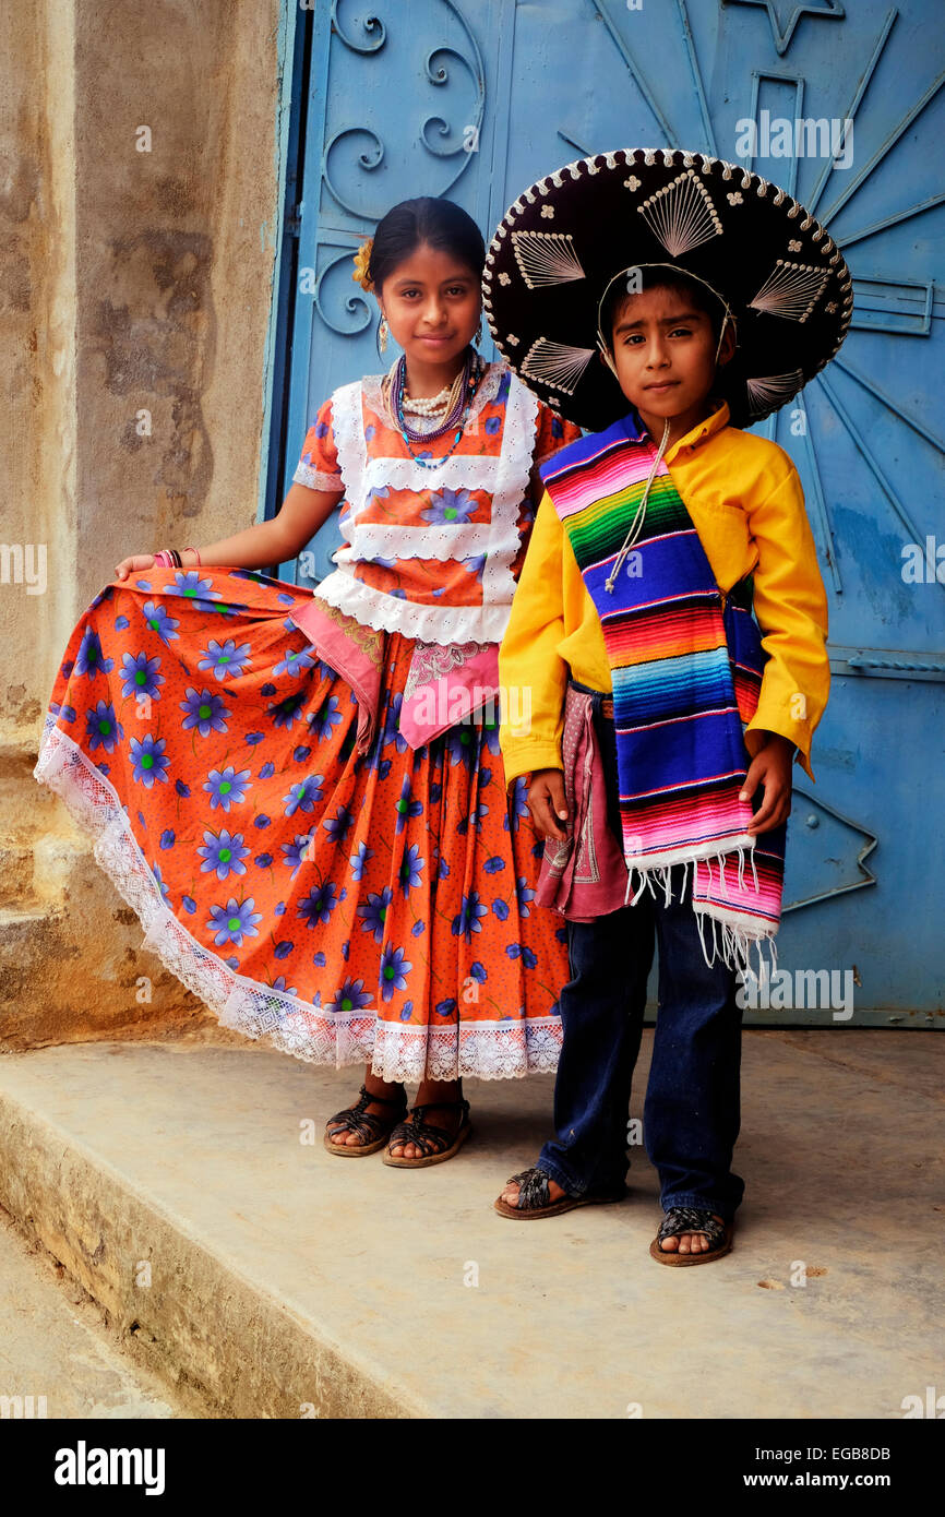
[[[899,1418],[945,1387],[943,1069],[931,1033],[746,1032],[746,1200],[702,1268],[649,1258],[639,1148],[619,1206],[493,1212],[551,1077],[466,1082],[466,1148],[402,1171],[322,1147],[359,1071],[253,1045],[0,1060],[0,1201],[203,1415]]]

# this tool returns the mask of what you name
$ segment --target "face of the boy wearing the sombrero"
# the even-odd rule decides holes
[[[617,308],[611,337],[617,379],[657,437],[666,420],[675,441],[707,416],[717,341],[708,314],[684,290],[657,285]],[[733,346],[727,328],[722,363]]]

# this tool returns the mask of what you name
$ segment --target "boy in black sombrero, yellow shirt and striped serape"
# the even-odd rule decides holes
[[[501,746],[508,784],[531,775],[538,903],[567,919],[572,978],[557,1138],[494,1204],[526,1220],[625,1194],[657,939],[645,1141],[664,1212],[651,1255],[673,1265],[731,1248],[736,974],[777,931],[792,762],[813,778],[830,684],[796,470],[730,420],[784,404],[849,319],[849,276],[816,223],[757,176],[707,158],[696,173],[695,158],[608,153],[540,181],[485,281],[513,367],[570,420],[604,423],[542,469],[499,655],[502,687],[531,693],[531,731],[504,727]]]

